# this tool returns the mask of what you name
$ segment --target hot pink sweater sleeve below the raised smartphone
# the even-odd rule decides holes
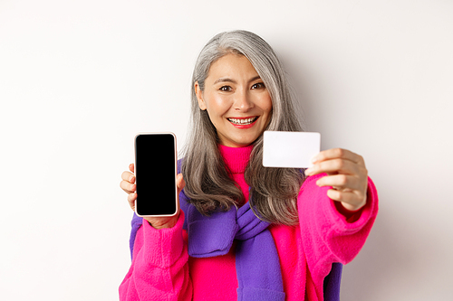
[[[182,211],[178,223],[169,229],[154,229],[143,220],[135,237],[130,270],[120,285],[121,301],[191,300],[183,223]]]

